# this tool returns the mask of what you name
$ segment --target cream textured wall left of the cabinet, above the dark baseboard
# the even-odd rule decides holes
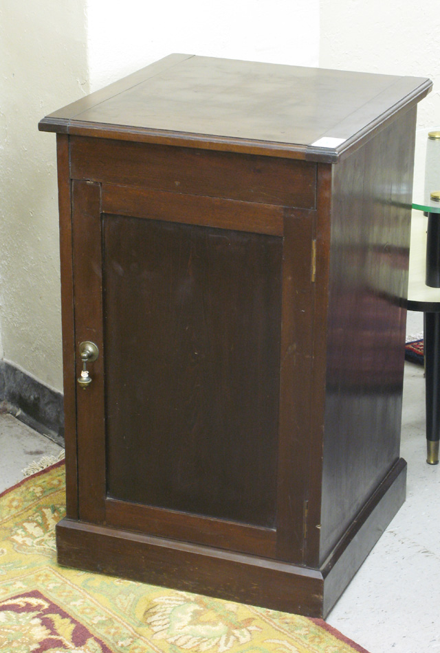
[[[1,0],[0,325],[6,360],[62,389],[55,138],[88,91],[82,0]]]

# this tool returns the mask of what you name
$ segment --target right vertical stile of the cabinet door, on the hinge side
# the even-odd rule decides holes
[[[294,211],[285,219],[281,317],[280,422],[278,444],[277,554],[302,563],[309,492],[311,360],[315,285],[314,215]]]

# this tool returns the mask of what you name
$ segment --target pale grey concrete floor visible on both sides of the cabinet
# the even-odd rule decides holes
[[[422,330],[411,317],[409,333]],[[60,447],[0,415],[0,491],[21,470]],[[370,653],[440,653],[440,465],[426,464],[423,368],[406,363],[401,455],[408,462],[404,506],[327,621]],[[335,651],[335,653],[338,653]]]

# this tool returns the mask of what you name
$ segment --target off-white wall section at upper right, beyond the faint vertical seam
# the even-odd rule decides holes
[[[439,9],[438,0],[320,0],[319,65],[429,77],[417,124],[440,125]]]

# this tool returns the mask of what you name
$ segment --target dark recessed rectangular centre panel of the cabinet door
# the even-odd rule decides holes
[[[282,239],[102,221],[107,496],[274,527]]]

